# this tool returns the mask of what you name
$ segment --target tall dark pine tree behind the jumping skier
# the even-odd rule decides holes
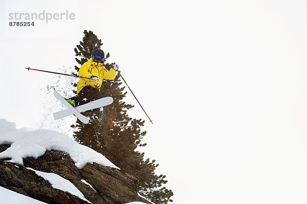
[[[92,32],[84,31],[83,40],[74,49],[76,61],[81,65],[92,55],[92,51],[100,49],[102,42]],[[105,59],[109,57],[107,53]],[[105,64],[106,69],[111,69],[112,64]],[[79,67],[75,66],[78,71]],[[83,145],[89,146],[97,152],[105,155],[108,160],[121,168],[125,173],[134,175],[139,180],[139,193],[156,204],[171,202],[172,191],[163,187],[167,183],[165,175],[156,175],[155,169],[159,166],[156,161],[145,160],[144,153],[136,150],[137,147],[146,146],[141,140],[146,135],[142,131],[144,121],[132,119],[127,110],[133,105],[126,104],[124,98],[127,94],[125,87],[119,79],[105,80],[100,92],[103,96],[111,96],[114,102],[105,106],[103,111],[96,109],[87,111],[84,115],[90,117],[89,124],[77,121],[74,132],[75,139]]]

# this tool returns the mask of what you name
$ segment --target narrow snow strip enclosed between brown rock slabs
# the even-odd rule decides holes
[[[79,191],[79,189],[77,189],[77,187],[75,187],[69,180],[55,174],[55,173],[46,173],[46,172],[42,172],[42,171],[37,171],[35,169],[31,169],[31,168],[27,168],[30,169],[32,171],[35,171],[35,173],[43,178],[45,178],[45,180],[48,180],[50,182],[50,184],[52,185],[53,188],[55,189],[59,189],[61,191],[67,191],[72,195],[75,195],[79,198],[81,198],[82,200],[85,200],[89,203],[89,200],[87,200],[84,195]]]

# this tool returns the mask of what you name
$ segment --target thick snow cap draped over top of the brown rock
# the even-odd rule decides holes
[[[52,130],[16,129],[15,123],[5,119],[0,119],[0,144],[11,145],[0,153],[0,158],[11,158],[8,162],[19,165],[24,165],[25,157],[37,158],[46,150],[53,149],[67,152],[78,169],[93,162],[119,169],[101,153],[77,143],[63,133]]]

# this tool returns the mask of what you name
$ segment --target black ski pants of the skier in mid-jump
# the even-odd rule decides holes
[[[97,99],[102,98],[102,94],[100,93],[100,90],[97,88],[94,88],[92,86],[84,86],[78,96],[75,96],[71,98],[76,102],[76,106],[83,105],[85,103],[89,103],[91,101],[95,101]]]

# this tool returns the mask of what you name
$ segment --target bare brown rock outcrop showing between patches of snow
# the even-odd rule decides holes
[[[0,152],[10,145],[0,145]],[[119,204],[133,201],[149,203],[138,196],[138,180],[118,169],[96,163],[78,169],[70,156],[61,151],[46,151],[38,158],[24,158],[24,166],[0,160],[0,186],[47,203],[88,203],[52,187],[32,169],[55,173],[69,180],[93,204]],[[83,181],[82,181],[83,180]],[[88,185],[90,184],[90,185]]]

